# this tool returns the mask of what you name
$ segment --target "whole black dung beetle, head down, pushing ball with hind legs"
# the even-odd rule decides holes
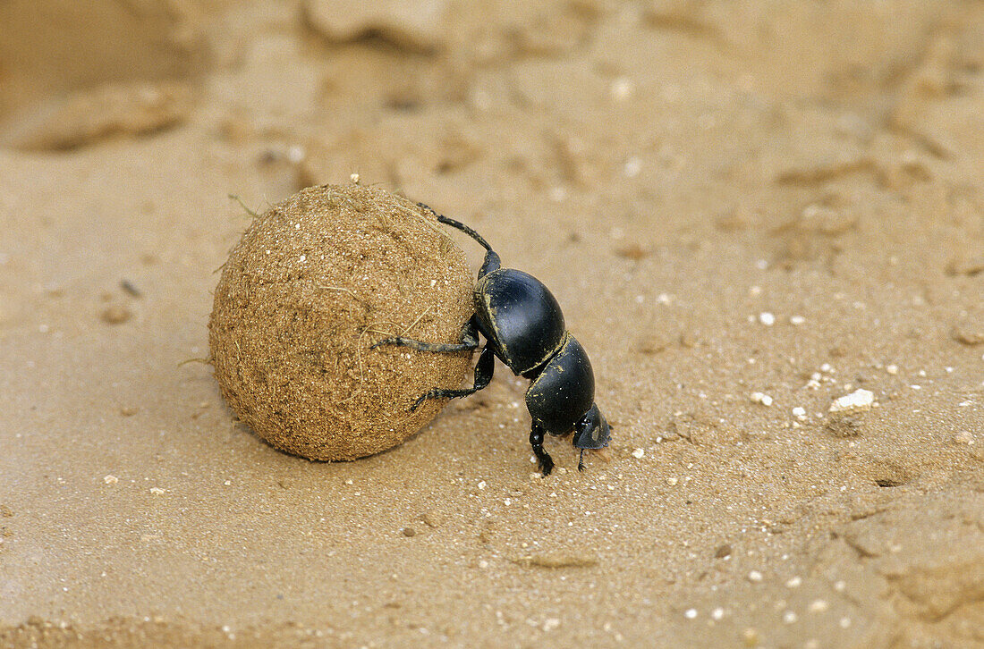
[[[478,334],[486,343],[475,364],[475,383],[467,389],[434,388],[416,400],[456,398],[474,394],[492,381],[498,357],[518,377],[528,379],[526,408],[532,419],[529,444],[544,476],[553,470],[553,459],[543,449],[543,435],[574,433],[572,442],[581,450],[578,470],[584,471],[584,449],[608,445],[611,431],[594,403],[594,373],[584,347],[564,325],[557,299],[543,282],[515,268],[501,267],[492,247],[467,225],[438,214],[423,205],[438,221],[461,230],[485,249],[474,289],[475,313],[461,331],[460,343],[434,343],[404,338],[384,338],[372,345],[398,345],[423,352],[451,353],[478,347]]]

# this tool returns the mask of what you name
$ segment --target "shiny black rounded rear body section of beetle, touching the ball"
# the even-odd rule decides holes
[[[539,279],[500,268],[475,287],[478,328],[517,375],[542,365],[564,340],[564,315]]]

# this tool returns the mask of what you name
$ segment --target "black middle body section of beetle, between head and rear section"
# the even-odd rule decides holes
[[[526,408],[533,421],[551,435],[571,431],[594,403],[594,372],[577,338],[568,334],[563,346],[526,390]]]

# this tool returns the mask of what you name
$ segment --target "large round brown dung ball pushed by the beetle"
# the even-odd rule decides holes
[[[296,455],[351,460],[403,442],[461,384],[467,352],[372,343],[458,342],[471,272],[437,219],[383,190],[311,187],[258,217],[215,289],[215,379],[261,438]]]

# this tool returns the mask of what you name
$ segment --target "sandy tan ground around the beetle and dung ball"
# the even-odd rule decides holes
[[[0,3],[0,645],[984,646],[984,5],[348,4]],[[611,463],[501,366],[237,425],[228,195],[352,172],[552,288]]]

